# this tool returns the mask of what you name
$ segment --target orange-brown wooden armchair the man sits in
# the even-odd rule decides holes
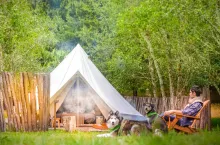
[[[169,119],[169,121],[166,122],[168,130],[175,129],[177,131],[188,133],[188,134],[195,133],[196,132],[196,128],[195,128],[196,121],[200,120],[201,112],[202,112],[202,110],[204,110],[204,108],[208,105],[209,102],[210,102],[210,100],[206,100],[206,101],[203,102],[203,107],[199,110],[199,112],[196,114],[196,116],[188,116],[188,115],[183,115],[183,114],[175,114],[176,118],[173,121],[170,121],[170,119]],[[184,127],[177,125],[176,123],[182,117],[187,117],[187,118],[194,119],[192,125],[184,126]]]

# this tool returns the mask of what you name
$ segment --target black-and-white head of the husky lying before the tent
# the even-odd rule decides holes
[[[117,126],[118,124],[121,123],[122,121],[122,117],[119,115],[119,112],[116,111],[115,113],[113,111],[111,111],[109,113],[109,117],[107,119],[107,126],[109,129],[114,128],[115,126]]]

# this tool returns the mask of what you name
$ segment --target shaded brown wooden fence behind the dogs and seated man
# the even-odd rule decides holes
[[[203,89],[204,90],[204,89]],[[209,99],[209,97],[207,97],[207,95],[209,95],[208,90],[205,89],[203,91],[203,100],[207,100]],[[170,98],[153,98],[153,97],[129,97],[126,96],[124,97],[133,107],[136,108],[136,110],[138,110],[142,115],[145,115],[144,112],[144,107],[143,104],[144,103],[152,103],[155,105],[155,109],[157,110],[157,112],[160,114],[166,110],[170,110],[171,109],[171,103],[170,103]],[[188,102],[188,97],[183,96],[183,97],[175,97],[174,98],[174,106],[175,109],[181,110]],[[211,106],[210,104],[202,111],[201,113],[201,120],[197,121],[196,123],[196,128],[200,128],[200,129],[207,129],[210,130],[211,129],[211,123],[210,123],[210,119],[211,119]]]

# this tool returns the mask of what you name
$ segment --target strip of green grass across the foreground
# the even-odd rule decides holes
[[[0,133],[0,145],[220,145],[220,129],[185,135],[174,131],[163,137],[149,135],[97,138],[97,132]]]

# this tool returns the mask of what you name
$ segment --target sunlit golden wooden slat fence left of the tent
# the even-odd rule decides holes
[[[48,74],[0,75],[0,132],[46,131],[49,122]]]

